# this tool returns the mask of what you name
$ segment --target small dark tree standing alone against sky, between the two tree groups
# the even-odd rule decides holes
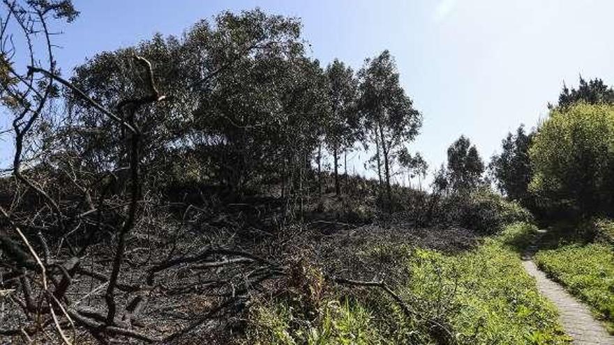
[[[448,148],[448,175],[451,187],[457,192],[464,192],[476,187],[484,173],[477,148],[471,141],[461,135]]]

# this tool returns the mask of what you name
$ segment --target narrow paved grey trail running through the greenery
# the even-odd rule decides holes
[[[523,254],[523,266],[527,273],[537,280],[537,288],[542,295],[546,296],[559,311],[559,319],[574,342],[578,345],[614,345],[614,337],[599,321],[594,319],[590,309],[582,302],[576,300],[565,289],[546,277],[533,262],[533,255],[537,252],[537,243],[545,230],[540,230],[534,243]]]

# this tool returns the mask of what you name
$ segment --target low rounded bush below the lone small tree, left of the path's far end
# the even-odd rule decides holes
[[[452,222],[480,234],[498,233],[507,224],[533,220],[517,201],[507,201],[486,187],[454,195],[446,208]]]

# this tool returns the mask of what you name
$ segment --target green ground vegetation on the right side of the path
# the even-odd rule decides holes
[[[541,270],[585,300],[614,334],[614,247],[563,244],[537,252],[535,259]]]

